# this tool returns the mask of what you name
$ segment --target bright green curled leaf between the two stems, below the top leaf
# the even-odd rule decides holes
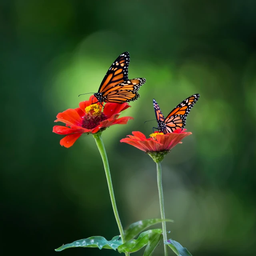
[[[154,238],[155,238],[154,235],[156,235],[156,234],[161,235],[162,229],[147,230],[147,231],[141,233],[140,236],[138,237],[138,239],[136,239],[136,240],[131,239],[131,240],[125,242],[124,244],[121,244],[120,246],[118,246],[117,250],[120,253],[121,252],[137,252],[142,247],[147,245],[149,242],[150,242],[150,244],[152,243],[152,246],[153,246],[153,244],[156,243],[156,242],[154,242]],[[148,248],[149,254],[145,254],[145,255],[151,255],[150,254],[151,252],[152,252],[152,248],[151,248],[151,246],[149,246],[149,248]]]

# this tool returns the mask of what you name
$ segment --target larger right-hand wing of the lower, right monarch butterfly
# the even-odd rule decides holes
[[[184,128],[186,125],[186,117],[188,116],[188,113],[197,102],[199,97],[199,94],[194,94],[186,98],[186,100],[183,100],[180,104],[178,104],[178,106],[176,106],[176,108],[170,112],[170,114],[168,114],[164,120],[166,124],[166,128],[164,130],[165,134],[168,132],[174,132],[179,128]]]

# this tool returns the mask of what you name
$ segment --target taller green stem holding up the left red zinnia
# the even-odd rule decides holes
[[[93,134],[93,137],[96,141],[96,144],[97,144],[98,149],[100,151],[100,155],[102,157],[102,161],[103,161],[103,164],[104,164],[104,169],[105,169],[106,177],[107,177],[107,181],[108,181],[108,190],[109,190],[109,194],[110,194],[110,198],[111,198],[111,202],[112,202],[112,207],[113,207],[113,210],[114,210],[114,214],[115,214],[115,217],[116,217],[116,222],[117,222],[117,225],[118,225],[118,228],[119,228],[119,232],[120,232],[120,235],[121,235],[121,238],[122,238],[122,242],[124,243],[125,242],[124,230],[123,230],[123,227],[122,227],[119,215],[118,215],[117,207],[116,207],[116,200],[115,200],[113,185],[112,185],[112,181],[111,181],[111,175],[110,175],[110,170],[109,170],[109,165],[108,165],[108,158],[107,158],[106,150],[105,150],[102,138],[101,138],[101,132]],[[129,255],[129,254],[126,254],[126,255]]]

